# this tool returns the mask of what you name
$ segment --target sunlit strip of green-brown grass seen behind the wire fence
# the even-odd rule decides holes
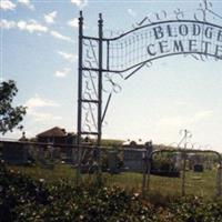
[[[58,180],[67,180],[74,183],[75,170],[69,164],[54,164],[43,167],[40,164],[33,167],[16,167],[8,165],[9,169],[20,171],[34,179],[44,179],[49,183]],[[111,175],[103,173],[102,178],[107,185],[119,185],[128,190],[141,191],[142,174],[141,173],[120,173]],[[82,180],[90,180],[92,175],[84,174]],[[200,196],[214,196],[215,195],[215,181],[216,171],[204,171],[203,173],[195,173],[192,171],[186,172],[185,179],[185,193]],[[162,196],[180,195],[181,193],[181,178],[164,178],[164,176],[150,176],[150,194]]]

